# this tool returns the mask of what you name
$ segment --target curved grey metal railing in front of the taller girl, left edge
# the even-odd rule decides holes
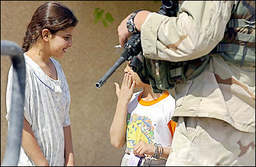
[[[13,63],[13,85],[11,111],[7,132],[7,146],[1,166],[17,166],[22,144],[23,107],[26,81],[26,66],[23,50],[15,42],[1,40],[1,56],[11,56]]]

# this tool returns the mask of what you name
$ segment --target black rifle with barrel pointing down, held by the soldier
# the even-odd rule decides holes
[[[175,16],[177,11],[177,5],[179,1],[162,1],[162,6],[158,13],[167,15],[169,17]],[[137,56],[142,51],[140,33],[133,35],[130,40],[123,47],[124,50],[120,58],[115,64],[108,69],[108,71],[95,83],[96,88],[100,89],[106,80],[125,62],[125,60],[132,60],[134,56]],[[135,66],[133,68],[136,68]],[[136,72],[136,70],[135,70]]]

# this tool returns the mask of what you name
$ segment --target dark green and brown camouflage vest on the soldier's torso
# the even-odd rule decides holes
[[[229,64],[255,68],[255,1],[237,1],[224,38],[212,53]]]

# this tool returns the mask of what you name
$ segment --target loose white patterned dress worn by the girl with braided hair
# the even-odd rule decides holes
[[[64,131],[70,125],[69,104],[70,93],[61,64],[50,58],[57,70],[57,80],[44,73],[42,68],[24,53],[26,62],[26,87],[24,99],[24,117],[30,123],[38,145],[50,166],[64,166]],[[9,121],[11,108],[11,85],[13,66],[8,75],[6,93],[6,119]],[[35,166],[20,150],[18,166]]]

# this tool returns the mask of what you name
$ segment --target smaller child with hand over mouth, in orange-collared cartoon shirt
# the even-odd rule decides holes
[[[153,93],[127,62],[121,89],[115,82],[117,109],[110,127],[115,148],[126,142],[121,166],[165,166],[176,123],[171,121],[174,98],[167,91]],[[135,87],[143,91],[133,93]]]

